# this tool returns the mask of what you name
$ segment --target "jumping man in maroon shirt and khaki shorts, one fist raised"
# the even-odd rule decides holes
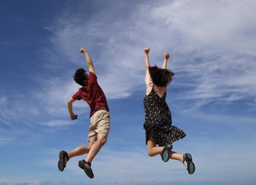
[[[72,104],[75,100],[83,99],[89,104],[90,127],[87,139],[89,144],[87,146],[79,146],[70,152],[61,151],[58,168],[63,171],[70,158],[88,153],[87,158],[79,161],[78,166],[84,170],[89,178],[94,178],[91,162],[107,141],[110,130],[110,115],[106,97],[98,85],[90,56],[84,48],[81,48],[80,52],[85,54],[89,75],[83,68],[75,71],[74,80],[82,87],[68,100],[68,111],[70,118],[75,120],[77,115],[72,111]]]

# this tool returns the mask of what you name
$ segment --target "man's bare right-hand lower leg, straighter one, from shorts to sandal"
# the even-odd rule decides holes
[[[97,141],[91,146],[90,151],[85,159],[86,162],[91,163],[94,157],[98,154],[102,146],[107,142],[107,138],[101,134],[97,134]]]

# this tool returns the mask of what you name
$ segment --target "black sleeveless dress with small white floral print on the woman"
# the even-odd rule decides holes
[[[172,116],[166,104],[166,92],[159,97],[153,88],[149,95],[143,98],[145,108],[146,144],[149,139],[149,131],[152,130],[152,137],[158,146],[165,146],[186,136],[186,134],[176,126],[172,126]]]

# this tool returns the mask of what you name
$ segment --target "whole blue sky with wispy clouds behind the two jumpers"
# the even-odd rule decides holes
[[[256,2],[245,0],[2,1],[0,185],[255,184]],[[147,155],[143,48],[175,73],[166,101],[196,172]],[[89,179],[60,150],[87,144],[89,107],[68,99],[89,52],[108,100],[111,131]]]

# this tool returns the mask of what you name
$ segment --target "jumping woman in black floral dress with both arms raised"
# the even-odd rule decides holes
[[[162,160],[176,159],[184,163],[188,173],[195,172],[195,165],[192,156],[188,153],[181,155],[171,151],[172,143],[186,136],[186,134],[176,126],[172,126],[172,116],[166,104],[166,89],[172,81],[174,73],[166,69],[169,53],[166,52],[162,69],[149,64],[149,48],[145,48],[146,85],[147,93],[143,99],[145,108],[145,123],[147,153],[153,157],[160,154]],[[156,147],[158,144],[158,147]]]

